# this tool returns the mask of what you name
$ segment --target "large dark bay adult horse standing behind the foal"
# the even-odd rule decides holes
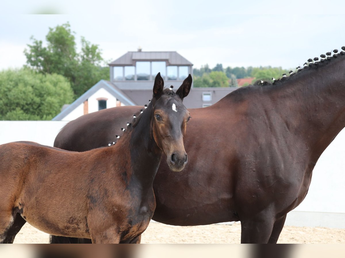
[[[342,50],[273,84],[239,88],[213,106],[190,109],[185,173],[160,164],[152,219],[180,226],[241,221],[242,243],[276,243],[286,214],[307,194],[315,163],[345,126]],[[82,116],[61,130],[55,146],[106,146],[139,108]]]

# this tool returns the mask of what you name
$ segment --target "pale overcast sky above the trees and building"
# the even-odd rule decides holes
[[[65,22],[79,45],[84,36],[107,61],[141,46],[177,51],[196,68],[295,68],[345,45],[343,1],[20,0],[0,9],[7,13],[0,16],[0,69],[21,67],[30,36],[45,41],[49,27]],[[33,14],[51,10],[61,14]]]

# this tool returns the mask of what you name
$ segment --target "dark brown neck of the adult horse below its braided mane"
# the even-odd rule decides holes
[[[316,160],[345,126],[345,56],[338,58],[273,85],[274,106]]]

